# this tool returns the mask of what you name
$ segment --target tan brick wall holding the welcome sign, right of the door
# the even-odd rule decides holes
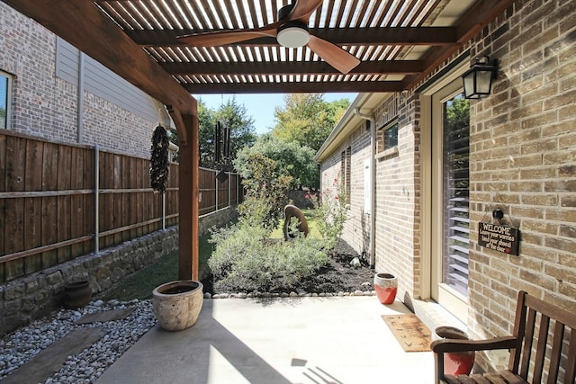
[[[475,337],[511,331],[518,290],[576,313],[575,11],[522,1],[473,40],[471,57],[500,60],[491,96],[471,104]],[[477,223],[494,208],[521,231],[518,257],[478,246]]]

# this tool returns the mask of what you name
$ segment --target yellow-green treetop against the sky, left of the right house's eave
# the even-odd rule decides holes
[[[278,121],[272,134],[286,142],[320,149],[350,104],[347,99],[328,103],[323,94],[287,94],[284,108],[276,107]]]

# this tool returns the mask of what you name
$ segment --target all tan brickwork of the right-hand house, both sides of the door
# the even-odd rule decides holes
[[[511,332],[518,290],[576,313],[575,13],[576,2],[520,1],[420,84],[467,49],[471,61],[483,55],[500,61],[491,96],[471,106],[468,331],[473,338]],[[405,293],[419,298],[428,290],[419,281],[428,228],[420,223],[420,96],[401,96],[398,153],[376,161],[376,270],[398,275],[404,299]],[[352,134],[322,164],[323,183],[338,176],[340,152],[347,146],[352,164],[364,164],[367,135]],[[343,236],[358,251],[363,177],[355,167]],[[518,257],[478,246],[478,223],[491,219],[494,208],[504,210],[504,224],[521,232]],[[508,361],[501,353],[478,357],[484,369]]]

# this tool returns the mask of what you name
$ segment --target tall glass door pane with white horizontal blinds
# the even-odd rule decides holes
[[[444,104],[443,282],[467,296],[470,102],[463,94]]]

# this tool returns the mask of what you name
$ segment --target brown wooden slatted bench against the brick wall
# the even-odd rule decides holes
[[[537,316],[539,314],[539,316]],[[574,384],[576,371],[576,313],[518,292],[518,305],[512,335],[491,340],[434,341],[430,347],[436,362],[437,383],[543,383]],[[569,333],[570,332],[570,333]],[[548,337],[550,333],[550,337]],[[550,340],[550,343],[548,343]],[[484,374],[447,375],[444,373],[444,353],[509,349],[508,370]],[[543,379],[547,368],[548,377]],[[528,381],[529,380],[529,381]]]

